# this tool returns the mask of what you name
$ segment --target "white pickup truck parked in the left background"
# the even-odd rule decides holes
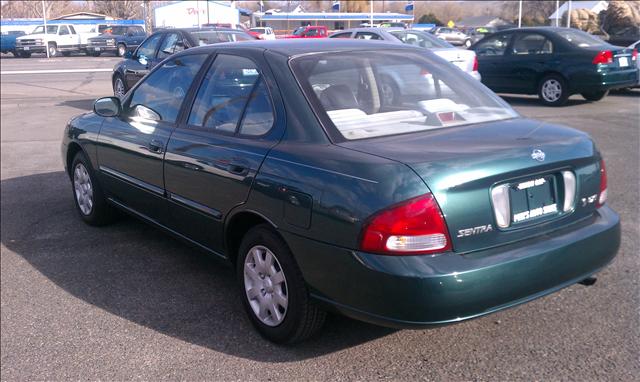
[[[31,34],[16,39],[16,52],[19,57],[31,57],[32,53],[46,53],[55,57],[59,54],[68,56],[71,52],[84,52],[87,40],[97,36],[98,33],[77,33],[73,25],[52,24],[47,25],[47,33],[44,33],[44,25],[38,25]]]

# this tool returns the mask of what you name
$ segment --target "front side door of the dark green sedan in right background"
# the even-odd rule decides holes
[[[473,47],[482,83],[493,91],[508,91],[512,88],[505,78],[505,73],[510,69],[505,55],[510,48],[512,36],[512,33],[496,33]]]

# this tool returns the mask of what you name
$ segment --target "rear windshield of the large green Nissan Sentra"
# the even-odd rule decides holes
[[[331,52],[291,60],[316,114],[339,140],[515,118],[498,96],[429,52]]]

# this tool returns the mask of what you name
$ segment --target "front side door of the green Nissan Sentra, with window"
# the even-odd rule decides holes
[[[185,95],[207,54],[168,60],[123,100],[122,113],[106,118],[97,156],[104,188],[131,210],[159,223],[167,217],[163,159]]]

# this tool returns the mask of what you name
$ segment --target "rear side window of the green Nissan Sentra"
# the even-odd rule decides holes
[[[273,108],[255,63],[244,57],[218,55],[200,85],[189,125],[227,134],[239,130],[242,135],[263,135],[269,131]]]

